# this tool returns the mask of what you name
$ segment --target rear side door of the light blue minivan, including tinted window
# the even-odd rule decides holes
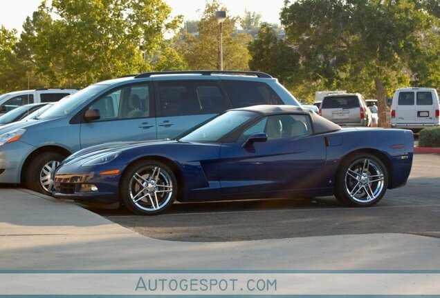
[[[219,83],[176,80],[156,83],[158,139],[172,139],[226,110]]]

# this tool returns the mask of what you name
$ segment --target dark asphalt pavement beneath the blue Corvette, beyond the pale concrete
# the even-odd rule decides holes
[[[164,214],[93,212],[141,235],[174,241],[238,241],[324,235],[410,233],[440,237],[440,155],[414,155],[407,185],[372,208],[346,208],[334,197],[175,203]]]

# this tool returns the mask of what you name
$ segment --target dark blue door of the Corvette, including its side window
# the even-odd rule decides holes
[[[266,132],[267,141],[243,147],[243,142],[255,132]],[[308,116],[264,117],[246,129],[235,143],[222,144],[221,190],[225,195],[233,195],[313,188],[325,159],[324,137],[313,135]]]

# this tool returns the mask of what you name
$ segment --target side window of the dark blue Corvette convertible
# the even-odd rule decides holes
[[[306,115],[274,115],[264,117],[245,130],[239,141],[245,141],[256,132],[266,132],[269,140],[286,139],[311,135],[311,121]]]

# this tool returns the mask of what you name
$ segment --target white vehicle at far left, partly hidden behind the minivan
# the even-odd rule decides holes
[[[40,88],[36,90],[23,90],[5,93],[0,95],[0,115],[24,106],[29,103],[48,103],[59,101],[63,97],[73,95],[78,92],[78,89],[64,89],[64,88]]]

